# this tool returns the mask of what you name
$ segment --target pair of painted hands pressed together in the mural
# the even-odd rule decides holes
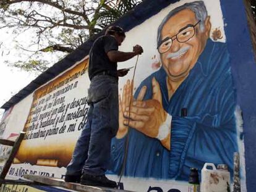
[[[143,86],[136,100],[132,98],[133,82],[127,81],[122,92],[122,100],[119,97],[119,133],[117,138],[126,135],[129,127],[135,128],[143,134],[156,138],[160,125],[162,125],[167,117],[167,112],[163,109],[162,95],[160,85],[155,78],[152,79],[153,96],[152,99],[143,101],[147,86]],[[130,109],[129,102],[133,99]],[[130,111],[130,115],[129,115]],[[130,119],[130,120],[129,120]],[[170,135],[161,143],[169,149]]]

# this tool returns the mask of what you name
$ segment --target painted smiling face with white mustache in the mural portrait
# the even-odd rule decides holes
[[[211,26],[209,18],[205,20],[205,24],[207,25],[205,25],[204,31],[201,31],[199,27],[200,22],[198,23],[194,12],[189,9],[181,10],[164,24],[161,31],[161,40],[172,37],[173,42],[169,50],[163,51],[164,53],[160,54],[160,57],[163,67],[171,80],[179,81],[187,77],[189,71],[194,67],[198,57],[205,48],[209,36],[208,33]],[[186,36],[190,34],[193,36],[187,40]],[[187,41],[181,43],[177,41],[177,36],[175,35],[178,36],[179,41]]]

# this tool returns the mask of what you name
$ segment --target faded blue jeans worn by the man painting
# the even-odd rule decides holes
[[[88,90],[87,124],[75,146],[66,175],[103,175],[108,169],[111,138],[118,130],[118,80],[97,75]]]

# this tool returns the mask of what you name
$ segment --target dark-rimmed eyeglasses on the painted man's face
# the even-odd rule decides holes
[[[179,43],[189,41],[195,35],[195,26],[197,26],[199,22],[201,22],[201,20],[195,23],[195,25],[189,24],[186,27],[181,28],[179,30],[179,33],[177,33],[176,35],[171,37],[168,36],[164,38],[164,40],[161,40],[160,46],[158,46],[157,48],[158,52],[160,54],[163,54],[164,52],[169,51],[174,40],[177,40]]]

